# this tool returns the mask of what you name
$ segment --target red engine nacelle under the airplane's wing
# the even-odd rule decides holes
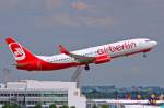
[[[99,64],[99,63],[105,63],[110,61],[110,57],[108,55],[102,55],[95,58],[94,63]]]

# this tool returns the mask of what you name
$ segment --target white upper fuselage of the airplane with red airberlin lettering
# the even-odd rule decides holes
[[[97,47],[91,47],[82,50],[75,50],[71,53],[86,56],[86,57],[97,57],[99,55],[108,53],[110,58],[116,58],[120,56],[128,56],[138,52],[147,52],[152,49],[157,43],[147,39],[129,39],[122,40],[113,44],[106,44]],[[74,58],[71,58],[65,53],[56,55],[56,56],[37,56],[39,59],[50,62],[50,63],[70,63],[77,62]]]

